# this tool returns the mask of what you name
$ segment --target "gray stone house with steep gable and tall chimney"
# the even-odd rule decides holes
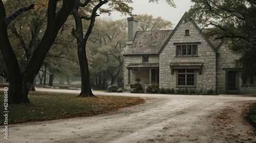
[[[146,88],[188,88],[217,93],[254,93],[254,79],[243,80],[234,60],[239,56],[225,40],[207,37],[185,14],[174,30],[137,31],[138,20],[128,21],[124,56],[124,89],[140,78]]]

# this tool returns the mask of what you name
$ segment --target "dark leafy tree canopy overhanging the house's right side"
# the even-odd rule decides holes
[[[256,77],[256,1],[191,0],[188,15],[204,27],[213,26],[209,35],[226,38],[227,46],[239,54],[237,66],[245,78]]]

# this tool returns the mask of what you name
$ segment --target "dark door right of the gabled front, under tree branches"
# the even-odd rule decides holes
[[[226,91],[227,93],[238,93],[239,74],[238,71],[227,71],[226,73]]]

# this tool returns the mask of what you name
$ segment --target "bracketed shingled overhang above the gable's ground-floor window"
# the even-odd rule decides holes
[[[193,68],[199,69],[199,74],[202,74],[203,62],[179,62],[179,63],[170,63],[169,64],[172,75],[174,74],[174,69],[184,69],[184,68]]]

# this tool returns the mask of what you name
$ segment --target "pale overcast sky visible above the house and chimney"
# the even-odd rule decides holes
[[[161,16],[165,20],[172,21],[174,26],[176,26],[183,14],[189,10],[193,3],[191,3],[190,0],[174,0],[174,3],[176,8],[170,7],[164,0],[160,0],[159,4],[148,3],[148,0],[134,0],[134,3],[132,3],[131,6],[134,8],[133,14],[148,14],[153,15],[155,18]],[[100,14],[100,17],[121,19],[128,16],[114,12],[111,16]]]

